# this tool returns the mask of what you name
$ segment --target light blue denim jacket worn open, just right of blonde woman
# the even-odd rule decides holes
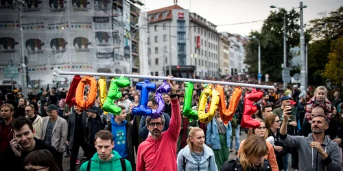
[[[233,128],[231,127],[231,122],[228,122],[226,127],[226,146],[230,147],[231,143],[231,135],[233,133]],[[207,131],[206,131],[206,145],[212,146],[212,149],[218,150],[220,149],[220,139],[219,139],[219,131],[217,127],[217,122],[215,118],[209,124],[207,124]]]

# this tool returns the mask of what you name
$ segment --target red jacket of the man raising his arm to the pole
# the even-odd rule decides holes
[[[180,134],[181,114],[178,99],[171,99],[169,129],[158,140],[151,136],[138,147],[137,171],[176,170],[176,142]]]

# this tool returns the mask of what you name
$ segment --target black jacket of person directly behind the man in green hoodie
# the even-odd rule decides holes
[[[91,120],[95,120],[95,124],[92,125]],[[91,118],[88,117],[86,119],[86,127],[84,127],[84,142],[86,145],[93,147],[94,146],[94,137],[92,138],[92,129],[95,127],[95,133],[97,133],[100,130],[104,130],[106,126],[106,122],[102,120],[102,117],[100,117],[97,114],[97,117]],[[94,135],[95,135],[94,133]]]

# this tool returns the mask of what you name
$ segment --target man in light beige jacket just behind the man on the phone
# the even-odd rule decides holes
[[[34,107],[31,105],[25,107],[25,115],[27,118],[29,118],[29,120],[31,120],[32,127],[34,127],[34,131],[36,131],[34,137],[40,139],[40,131],[42,130],[43,118],[39,115],[34,114]]]

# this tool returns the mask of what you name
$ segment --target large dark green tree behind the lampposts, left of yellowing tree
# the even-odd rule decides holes
[[[292,59],[289,54],[291,47],[299,44],[299,13],[295,10],[287,12],[281,9],[280,12],[270,12],[268,18],[264,21],[261,33],[259,31],[250,32],[249,36],[256,36],[261,41],[261,73],[268,73],[271,81],[282,81],[283,64],[283,14],[286,14],[286,33],[287,33],[287,66]],[[246,64],[250,66],[248,73],[256,75],[258,68],[258,42],[251,40],[246,45]]]

